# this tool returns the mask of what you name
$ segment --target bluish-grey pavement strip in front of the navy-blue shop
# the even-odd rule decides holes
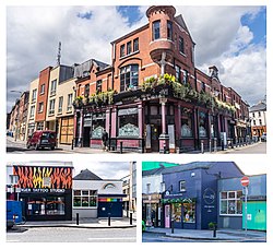
[[[248,230],[247,235],[245,230],[235,229],[219,229],[216,232],[216,237],[213,237],[212,230],[191,230],[191,229],[174,229],[171,234],[170,228],[153,228],[147,227],[145,233],[157,233],[163,234],[167,237],[185,238],[185,239],[197,239],[197,240],[228,240],[228,241],[266,241],[265,232]]]

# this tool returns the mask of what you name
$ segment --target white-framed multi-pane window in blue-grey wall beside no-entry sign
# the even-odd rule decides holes
[[[219,193],[219,214],[241,215],[242,214],[242,191],[223,191]]]

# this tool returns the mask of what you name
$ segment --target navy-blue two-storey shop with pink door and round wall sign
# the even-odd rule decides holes
[[[207,229],[217,223],[217,181],[240,177],[241,170],[233,162],[197,162],[163,171],[162,224],[166,228]]]

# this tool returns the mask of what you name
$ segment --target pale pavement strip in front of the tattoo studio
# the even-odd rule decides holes
[[[130,228],[136,227],[135,218],[132,220],[130,225],[130,218],[111,218],[110,226],[108,225],[108,218],[80,218],[79,225],[76,221],[38,221],[26,222],[24,225],[16,225],[16,227],[71,227],[71,228]]]

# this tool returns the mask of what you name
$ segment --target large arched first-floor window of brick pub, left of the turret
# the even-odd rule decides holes
[[[139,84],[139,64],[129,64],[120,69],[120,92]]]

